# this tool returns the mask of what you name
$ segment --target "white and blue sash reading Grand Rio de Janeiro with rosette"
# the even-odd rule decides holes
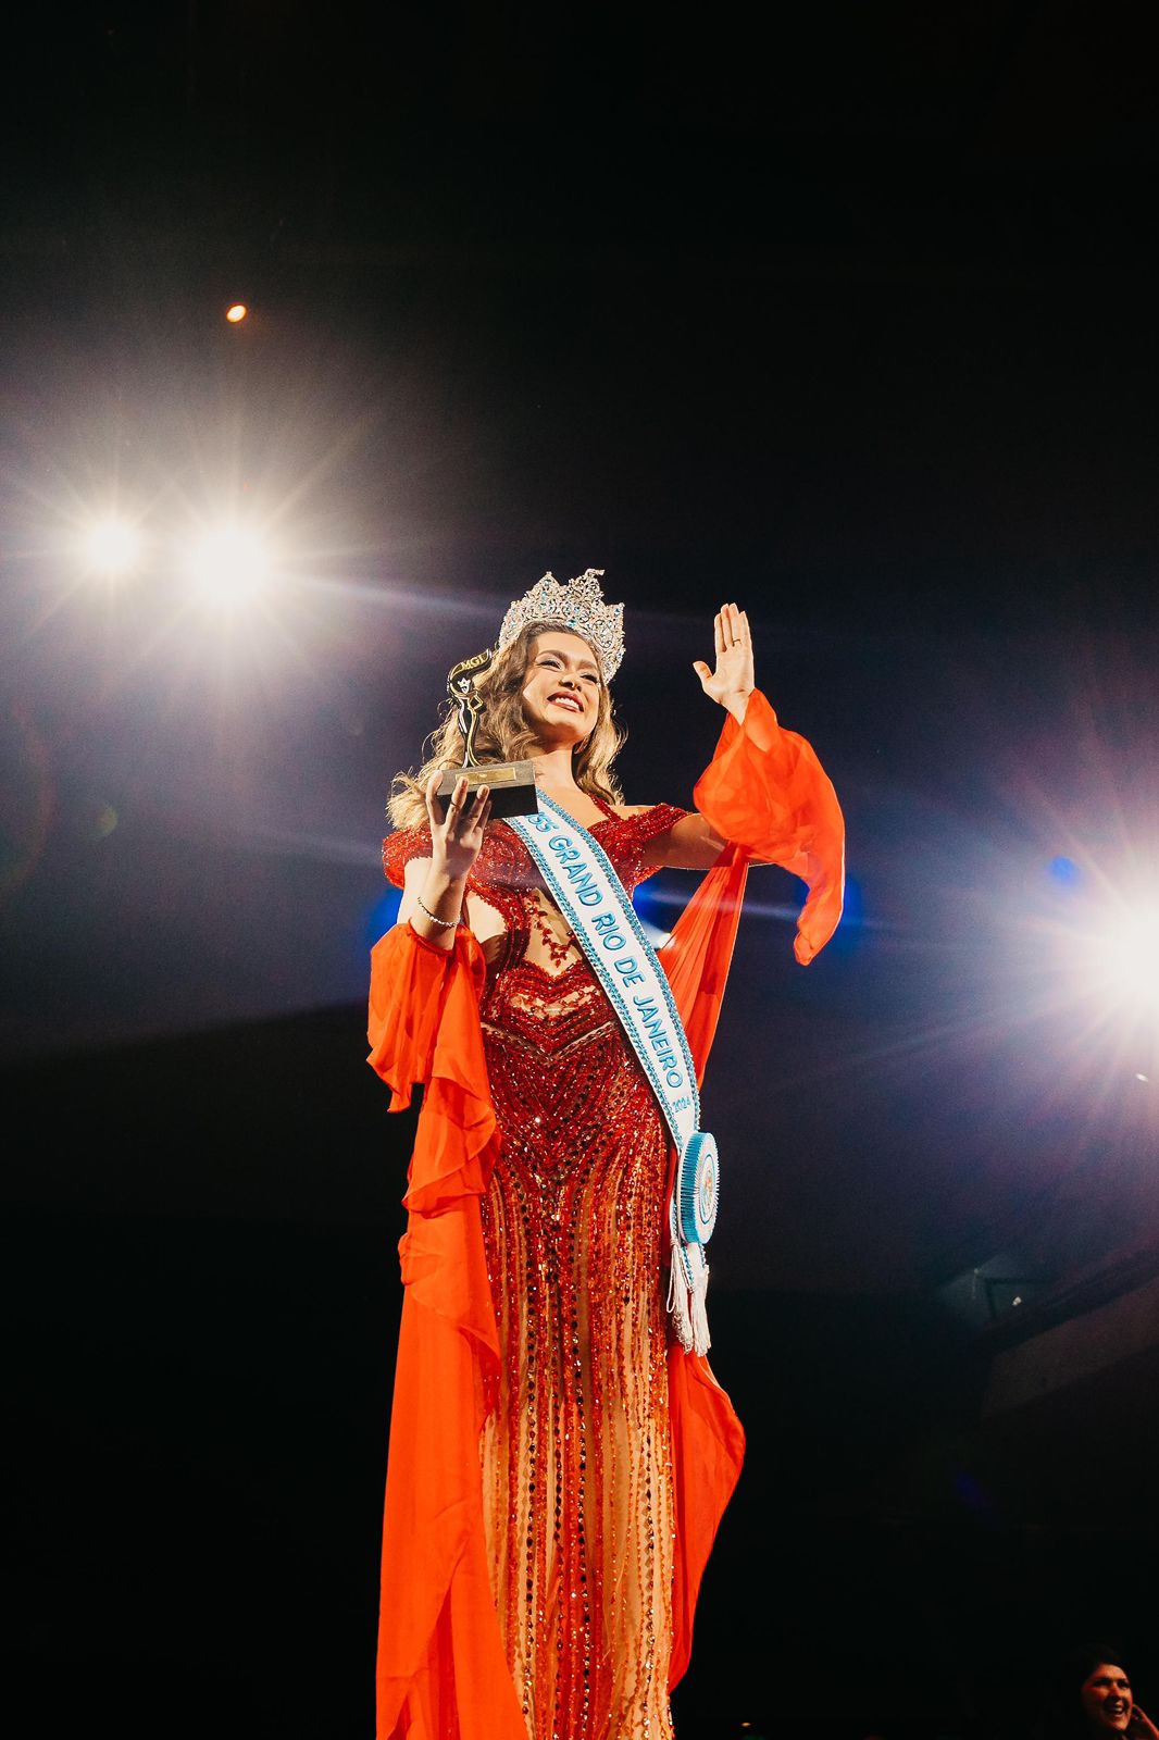
[[[512,816],[548,893],[583,948],[640,1068],[677,1152],[668,1201],[672,1279],[668,1310],[686,1352],[708,1352],[708,1262],[720,1169],[713,1138],[700,1128],[700,1091],[684,1025],[656,950],[599,840],[545,792],[539,813]]]

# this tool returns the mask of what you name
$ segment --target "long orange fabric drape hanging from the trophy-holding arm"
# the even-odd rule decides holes
[[[411,1103],[416,1082],[426,1088],[400,1242],[378,1644],[383,1740],[526,1740],[494,1623],[479,1477],[498,1366],[479,1220],[496,1147],[482,983],[482,950],[466,929],[446,954],[397,926],[371,954],[371,1067],[392,1089],[392,1110]]]

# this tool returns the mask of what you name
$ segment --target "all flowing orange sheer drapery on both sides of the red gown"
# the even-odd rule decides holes
[[[755,705],[754,705],[755,703]],[[661,952],[698,1077],[712,1046],[747,858],[785,863],[811,886],[797,959],[813,959],[841,912],[842,835],[832,785],[764,696],[731,719],[696,788],[722,854]],[[392,1110],[425,1086],[409,1171],[405,1286],[390,1429],[378,1656],[379,1740],[527,1740],[489,1582],[480,1434],[494,1406],[499,1342],[480,1199],[499,1136],[479,1002],[486,971],[466,929],[444,952],[411,926],[372,950],[371,1065]],[[675,1556],[673,1686],[689,1658],[712,1540],[740,1476],[743,1430],[708,1362],[668,1352]]]

